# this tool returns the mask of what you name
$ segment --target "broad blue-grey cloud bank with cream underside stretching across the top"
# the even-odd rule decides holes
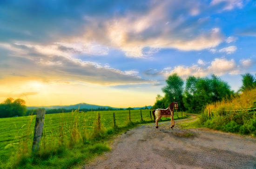
[[[97,1],[89,5],[86,1],[40,2],[36,16],[27,10],[34,9],[33,4],[10,1],[1,5],[0,11],[9,8],[0,23],[4,27],[0,28],[1,41],[47,43],[62,52],[84,55],[107,55],[109,48],[115,48],[129,57],[145,57],[163,48],[191,51],[216,47],[224,36],[217,27],[205,28],[209,17],[200,15],[217,13],[216,7],[242,7],[243,1],[212,0],[212,6],[198,0]],[[10,24],[7,18],[22,22]]]

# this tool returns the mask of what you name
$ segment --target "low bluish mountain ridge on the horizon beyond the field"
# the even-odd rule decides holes
[[[152,106],[147,106],[148,109],[150,109]],[[73,105],[54,105],[54,106],[28,106],[27,109],[31,110],[31,109],[38,109],[38,108],[45,108],[46,110],[49,109],[98,109],[98,108],[111,108],[111,109],[120,109],[120,108],[116,108],[116,107],[110,107],[110,106],[101,106],[101,105],[95,105],[95,104],[87,104],[87,103],[79,103],[79,104],[73,104]],[[143,109],[144,107],[133,107],[133,109],[137,110],[137,109]],[[126,109],[126,108],[122,108],[122,109]]]

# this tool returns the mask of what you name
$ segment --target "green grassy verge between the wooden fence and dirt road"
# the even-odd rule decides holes
[[[181,117],[180,114],[179,116]],[[182,118],[186,118],[186,116]],[[178,119],[178,117],[175,117],[175,119]],[[161,121],[168,120],[162,118]],[[28,142],[30,138],[25,136],[20,140],[19,146],[13,151],[10,159],[6,163],[0,163],[0,168],[76,168],[84,163],[88,163],[95,156],[109,151],[111,149],[109,144],[115,136],[140,124],[152,122],[154,121],[128,122],[121,127],[104,127],[101,125],[101,130],[98,130],[96,127],[93,130],[80,130],[74,123],[74,125],[69,126],[70,131],[63,133],[60,137],[43,138],[41,150],[37,154],[31,153],[31,145]]]

